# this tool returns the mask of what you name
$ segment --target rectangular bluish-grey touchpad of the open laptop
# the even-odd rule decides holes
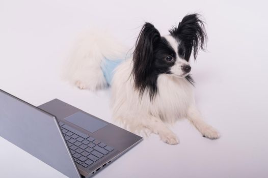
[[[97,118],[80,111],[66,117],[65,120],[91,133],[107,125],[107,123],[99,121]]]

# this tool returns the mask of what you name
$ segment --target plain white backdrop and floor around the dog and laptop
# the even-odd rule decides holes
[[[0,88],[34,105],[58,98],[112,122],[110,91],[61,79],[77,34],[97,26],[131,48],[145,21],[163,35],[187,13],[206,20],[208,52],[192,61],[196,101],[218,140],[186,120],[178,145],[152,135],[95,177],[268,177],[265,1],[0,1]],[[65,177],[0,137],[0,177]]]

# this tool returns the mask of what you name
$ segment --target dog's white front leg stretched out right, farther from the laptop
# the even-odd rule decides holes
[[[197,130],[204,136],[210,139],[220,137],[218,131],[212,126],[206,124],[201,117],[201,114],[194,105],[191,105],[187,110],[187,119],[193,123]]]

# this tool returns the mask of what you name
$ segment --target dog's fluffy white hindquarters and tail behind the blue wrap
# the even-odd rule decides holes
[[[79,36],[64,69],[64,79],[81,89],[104,88],[109,84],[102,71],[105,60],[116,62],[125,54],[125,47],[116,38],[91,29]]]

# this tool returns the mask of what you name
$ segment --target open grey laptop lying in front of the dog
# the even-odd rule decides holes
[[[0,136],[68,177],[90,177],[142,137],[61,100],[38,107],[0,90]]]

